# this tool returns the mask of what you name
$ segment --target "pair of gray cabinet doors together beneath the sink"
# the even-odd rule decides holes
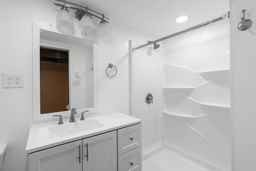
[[[29,154],[29,171],[117,171],[116,131]]]

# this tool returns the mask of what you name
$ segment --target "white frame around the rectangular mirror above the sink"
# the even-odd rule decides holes
[[[64,119],[70,116],[71,111],[59,111],[53,113],[41,114],[40,112],[40,30],[45,30],[49,32],[54,32],[58,34],[63,34],[58,31],[57,28],[53,26],[41,25],[35,22],[32,22],[32,78],[33,78],[33,121],[46,121],[53,120],[52,115],[62,115]],[[65,35],[65,34],[63,34]],[[68,35],[70,36],[70,35]],[[85,39],[82,35],[76,34],[72,36],[75,38]],[[98,113],[98,42],[97,39],[86,38],[93,42],[93,65],[94,65],[94,107],[85,108],[85,109],[76,109],[78,115],[81,115],[82,111],[89,110],[87,115],[97,114]],[[70,48],[70,47],[68,47]],[[70,70],[72,72],[72,70]],[[73,74],[73,73],[72,73]],[[71,74],[71,75],[72,75]],[[70,80],[71,81],[71,80]],[[77,115],[77,116],[78,116]]]

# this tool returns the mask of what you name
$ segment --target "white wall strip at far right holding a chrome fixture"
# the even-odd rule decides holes
[[[237,25],[246,9],[249,30]],[[256,168],[256,1],[230,0],[232,171]]]

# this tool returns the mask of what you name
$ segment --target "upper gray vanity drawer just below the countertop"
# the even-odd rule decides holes
[[[141,123],[118,129],[118,155],[141,146]]]

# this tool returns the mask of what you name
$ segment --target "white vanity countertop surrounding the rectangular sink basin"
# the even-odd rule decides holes
[[[116,129],[120,129],[122,127],[127,127],[130,125],[134,125],[142,122],[141,119],[131,117],[129,115],[125,115],[120,112],[87,117],[85,121],[89,121],[90,119],[98,121],[104,126],[96,129],[88,130],[88,131],[82,131],[82,132],[62,136],[62,137],[52,138],[50,137],[49,128],[58,126],[58,123],[54,123],[54,124],[50,123],[45,125],[33,125],[32,127],[30,127],[28,142],[26,146],[26,153],[33,153],[33,152],[54,147],[57,145],[62,145],[65,143],[84,139],[87,137],[91,137],[94,135],[113,131]],[[76,122],[83,122],[83,121],[78,120]],[[68,121],[66,122],[64,121],[64,124],[74,124],[74,123],[69,123]]]

